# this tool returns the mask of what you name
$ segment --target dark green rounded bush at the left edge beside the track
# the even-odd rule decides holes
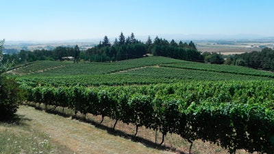
[[[14,79],[0,76],[0,120],[10,120],[14,116],[22,96],[23,90]]]

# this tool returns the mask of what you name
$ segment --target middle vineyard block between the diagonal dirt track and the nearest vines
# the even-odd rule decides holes
[[[269,77],[257,77],[252,75],[235,75],[231,73],[216,73],[212,71],[190,70],[181,68],[147,67],[127,72],[107,75],[30,75],[17,77],[20,83],[28,82],[32,86],[123,86],[158,83],[175,83],[178,81],[246,81],[246,80],[270,80]]]

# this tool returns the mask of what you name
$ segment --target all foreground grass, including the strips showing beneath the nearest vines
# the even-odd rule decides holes
[[[57,110],[62,110],[57,109]],[[66,113],[72,112],[65,110]],[[87,118],[97,125],[71,120],[54,114],[21,106],[17,112],[21,117],[16,124],[0,123],[0,153],[188,153],[190,144],[175,134],[167,134],[164,146],[155,142],[155,131],[140,127],[134,138],[134,125],[117,123],[112,131],[114,120],[105,118],[98,125],[100,116]],[[81,115],[79,115],[81,117]],[[120,131],[121,130],[121,131]],[[157,133],[161,142],[161,133]],[[127,139],[125,139],[127,138]],[[146,138],[146,140],[142,140]],[[132,141],[134,140],[134,141]],[[157,146],[157,149],[155,147]],[[170,149],[171,148],[171,149]],[[196,140],[192,154],[226,154],[225,149]],[[237,154],[247,154],[237,151]]]

